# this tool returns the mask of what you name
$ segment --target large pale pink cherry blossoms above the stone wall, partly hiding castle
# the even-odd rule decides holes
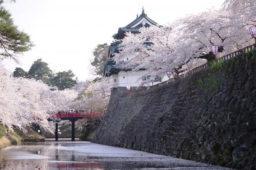
[[[221,9],[141,28],[139,34],[127,33],[114,60],[124,67],[137,65],[134,70],[145,68],[145,75],[173,71],[177,76],[189,69],[187,63],[194,68],[213,60],[211,45],[219,45],[219,55],[225,55],[252,44],[249,27],[256,24],[255,7],[256,1],[226,0]],[[132,59],[125,61],[127,56]]]

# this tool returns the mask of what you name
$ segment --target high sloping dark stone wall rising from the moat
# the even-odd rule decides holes
[[[93,142],[232,168],[256,167],[256,61],[237,57],[109,107]]]

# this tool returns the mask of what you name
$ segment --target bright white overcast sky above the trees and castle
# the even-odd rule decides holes
[[[42,58],[55,72],[72,69],[79,80],[89,80],[90,61],[97,44],[113,40],[113,34],[141,14],[142,6],[158,24],[220,7],[224,0],[16,0],[5,3],[15,25],[35,44],[19,59],[21,65],[4,60],[14,71],[30,69]]]

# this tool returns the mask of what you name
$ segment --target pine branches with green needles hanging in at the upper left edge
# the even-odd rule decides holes
[[[0,0],[0,60],[11,58],[18,63],[17,55],[28,51],[33,46],[30,36],[19,31],[14,25],[11,14],[2,6]]]

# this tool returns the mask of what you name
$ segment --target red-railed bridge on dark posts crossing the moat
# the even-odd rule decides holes
[[[78,119],[102,118],[104,113],[56,113],[48,121],[55,121],[55,140],[58,141],[58,119],[71,121],[71,141],[75,141],[75,121]],[[58,118],[57,120],[54,118]]]

